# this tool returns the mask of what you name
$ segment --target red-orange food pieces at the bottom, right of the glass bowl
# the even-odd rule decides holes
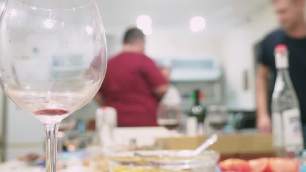
[[[222,171],[233,172],[298,172],[300,164],[288,158],[260,158],[250,161],[227,159],[219,166]]]

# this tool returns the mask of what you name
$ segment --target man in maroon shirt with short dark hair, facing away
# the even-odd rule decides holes
[[[168,83],[154,61],[144,55],[141,30],[127,30],[123,43],[123,51],[108,61],[95,100],[117,109],[118,126],[157,126],[157,107]]]

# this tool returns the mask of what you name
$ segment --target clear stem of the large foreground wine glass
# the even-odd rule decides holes
[[[59,123],[44,124],[46,133],[46,172],[56,171],[57,132]]]

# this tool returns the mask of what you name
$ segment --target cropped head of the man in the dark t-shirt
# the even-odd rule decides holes
[[[304,22],[305,0],[273,0],[277,19],[286,31]]]

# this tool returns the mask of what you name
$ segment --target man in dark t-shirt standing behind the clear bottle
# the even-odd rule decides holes
[[[276,76],[274,48],[278,44],[288,46],[290,77],[300,104],[302,123],[306,124],[305,0],[274,0],[272,2],[282,27],[266,36],[261,43],[258,57],[257,128],[261,132],[271,132],[269,109]],[[272,76],[270,79],[269,75]]]

